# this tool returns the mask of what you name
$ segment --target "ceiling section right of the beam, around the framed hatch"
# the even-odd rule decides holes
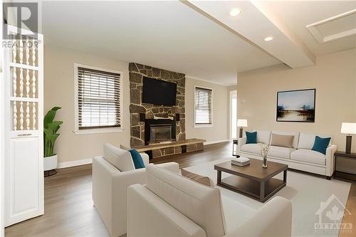
[[[285,21],[315,56],[356,48],[356,36],[320,44],[305,26],[356,9],[356,1],[268,1],[266,4]],[[329,25],[328,31],[337,31]],[[333,28],[333,29],[331,29]]]

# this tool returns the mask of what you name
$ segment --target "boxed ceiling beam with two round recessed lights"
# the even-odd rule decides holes
[[[182,1],[184,4],[223,26],[290,68],[315,65],[315,56],[305,43],[264,1]],[[231,9],[241,14],[229,16]],[[272,41],[264,38],[273,36]]]

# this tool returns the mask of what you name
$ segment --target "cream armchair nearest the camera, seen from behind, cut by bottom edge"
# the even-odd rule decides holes
[[[146,167],[147,184],[127,189],[127,237],[283,236],[291,234],[292,205],[276,196],[243,223],[226,230],[220,190]],[[239,213],[236,213],[239,215]]]

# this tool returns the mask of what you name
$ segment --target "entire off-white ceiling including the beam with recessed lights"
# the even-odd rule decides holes
[[[234,7],[242,13],[231,17]],[[234,85],[244,70],[356,48],[356,36],[318,43],[305,27],[352,9],[356,1],[43,1],[42,28],[46,46]],[[319,29],[352,26],[340,22]]]

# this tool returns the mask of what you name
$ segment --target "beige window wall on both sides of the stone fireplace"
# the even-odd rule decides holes
[[[74,130],[74,63],[98,68],[119,70],[123,73],[123,132],[90,135],[75,135]],[[214,127],[193,127],[194,85],[206,86],[214,90]],[[207,141],[227,139],[228,110],[226,86],[205,83],[187,78],[186,82],[186,132],[187,138],[201,138]],[[63,120],[55,152],[60,163],[90,159],[103,154],[103,144],[124,144],[130,146],[130,89],[128,63],[110,60],[63,48],[46,46],[44,50],[44,109],[47,112],[53,106],[58,110],[56,120]],[[71,165],[67,163],[67,165]]]

